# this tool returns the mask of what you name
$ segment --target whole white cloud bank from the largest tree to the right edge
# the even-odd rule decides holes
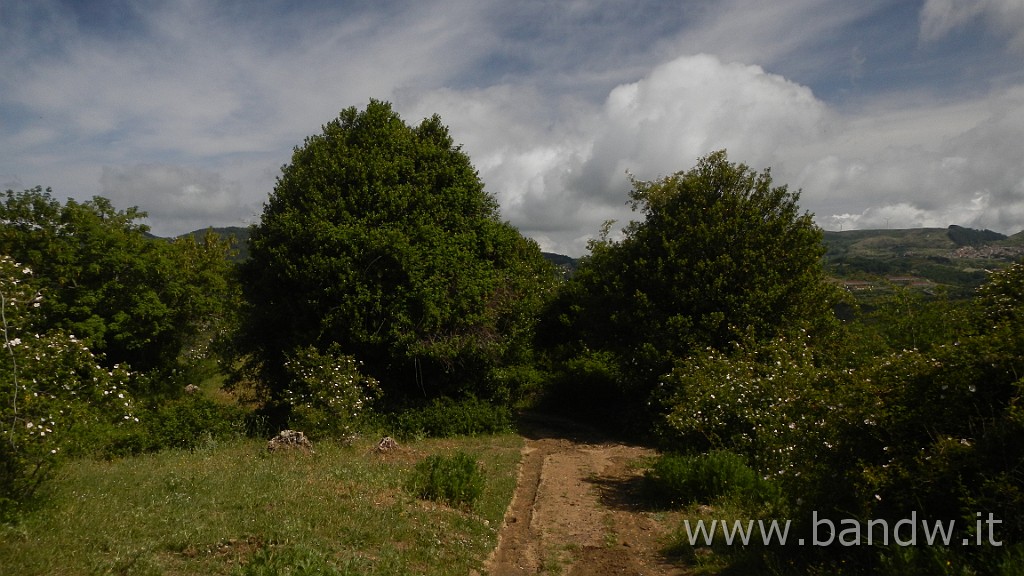
[[[760,67],[695,54],[574,114],[513,86],[409,104],[441,114],[506,217],[572,255],[605,219],[633,216],[627,171],[656,178],[719,149],[802,190],[802,206],[829,230],[956,223],[1015,233],[1024,221],[1024,168],[1014,160],[1024,89],[842,112]]]

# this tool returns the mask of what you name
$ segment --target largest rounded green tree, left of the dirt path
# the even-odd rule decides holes
[[[392,400],[507,396],[498,374],[527,360],[554,278],[440,119],[377,100],[295,149],[250,254],[238,349],[271,402],[308,346],[354,355]]]

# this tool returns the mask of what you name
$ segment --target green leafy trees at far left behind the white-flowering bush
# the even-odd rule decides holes
[[[0,253],[36,272],[47,295],[40,329],[75,334],[109,367],[170,375],[182,351],[225,319],[230,247],[213,236],[155,240],[143,217],[101,197],[61,204],[39,187],[8,190]]]

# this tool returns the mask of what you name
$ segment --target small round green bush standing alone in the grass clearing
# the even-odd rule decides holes
[[[409,482],[419,498],[472,508],[483,494],[484,478],[476,459],[464,452],[431,455],[416,464]]]

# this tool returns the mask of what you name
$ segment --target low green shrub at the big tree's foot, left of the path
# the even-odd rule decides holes
[[[453,438],[502,434],[512,429],[507,406],[468,397],[434,399],[420,408],[407,408],[392,416],[392,429],[399,438]]]

